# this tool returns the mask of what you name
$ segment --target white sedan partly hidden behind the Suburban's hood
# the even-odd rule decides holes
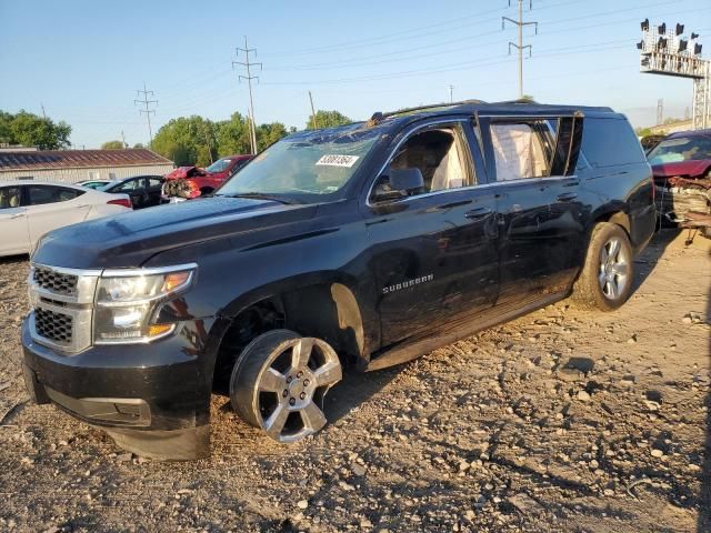
[[[30,253],[44,233],[132,210],[127,194],[64,183],[0,182],[0,257]]]

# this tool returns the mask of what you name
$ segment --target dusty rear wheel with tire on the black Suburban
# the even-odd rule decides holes
[[[610,222],[598,223],[573,288],[573,299],[583,308],[614,311],[632,293],[633,266],[632,245],[625,231]]]

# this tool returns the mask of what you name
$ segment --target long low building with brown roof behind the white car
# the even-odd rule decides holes
[[[124,150],[0,151],[0,182],[9,180],[118,180],[131,175],[164,175],[173,162],[143,148]]]

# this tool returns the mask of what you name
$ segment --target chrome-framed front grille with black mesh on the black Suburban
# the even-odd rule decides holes
[[[91,345],[93,295],[100,270],[33,264],[28,279],[33,312],[29,326],[39,344],[67,354]]]

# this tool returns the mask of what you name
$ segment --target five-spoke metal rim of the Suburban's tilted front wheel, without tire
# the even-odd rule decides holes
[[[254,408],[259,424],[278,442],[296,442],[321,430],[320,403],[342,378],[338,354],[326,342],[301,338],[282,343],[259,374]]]

